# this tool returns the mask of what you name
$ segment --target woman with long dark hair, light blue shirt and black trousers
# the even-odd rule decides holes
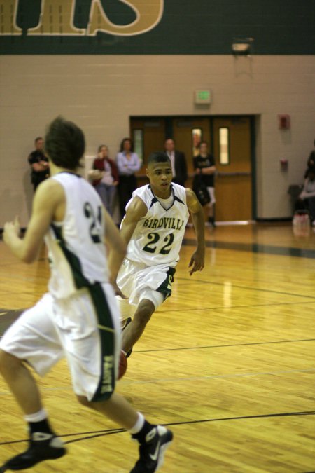
[[[120,217],[123,219],[125,215],[125,207],[132,198],[134,189],[137,188],[137,179],[134,175],[141,167],[141,160],[137,153],[134,153],[134,144],[131,138],[124,138],[120,144],[120,151],[116,158],[119,184],[119,208]]]

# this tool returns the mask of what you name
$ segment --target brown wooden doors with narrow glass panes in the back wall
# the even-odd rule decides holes
[[[139,184],[144,184],[146,158],[164,149],[165,139],[172,137],[176,149],[186,155],[189,179],[193,181],[193,156],[204,140],[216,160],[216,221],[239,221],[253,218],[251,120],[249,116],[232,117],[146,117],[131,118],[131,135],[136,150],[144,159]]]

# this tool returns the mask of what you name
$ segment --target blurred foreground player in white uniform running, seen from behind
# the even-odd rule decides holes
[[[17,221],[7,223],[3,233],[6,245],[25,263],[36,259],[45,238],[51,277],[49,292],[1,340],[0,370],[25,414],[30,435],[29,448],[8,460],[1,472],[31,468],[66,453],[29,370],[32,366],[43,376],[62,357],[68,361],[78,401],[116,421],[139,441],[139,460],[132,473],[155,472],[172,432],[148,423],[114,392],[120,322],[111,281],[125,256],[125,242],[94,188],[76,174],[85,150],[80,128],[56,118],[45,147],[51,177],[38,186],[25,238],[19,237]],[[103,238],[111,251],[108,264]],[[103,467],[95,465],[95,470]]]

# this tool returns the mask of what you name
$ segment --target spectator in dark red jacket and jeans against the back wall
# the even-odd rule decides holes
[[[93,163],[92,181],[107,212],[113,216],[113,205],[118,185],[118,170],[116,163],[109,158],[109,149],[106,144],[99,146],[97,158]],[[98,171],[98,172],[95,172]]]

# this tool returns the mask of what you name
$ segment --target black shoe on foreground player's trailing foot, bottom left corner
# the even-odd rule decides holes
[[[43,432],[34,432],[29,440],[29,448],[23,453],[16,455],[8,460],[0,472],[6,469],[27,469],[34,467],[43,460],[55,460],[66,454],[64,443],[55,434],[46,434]]]

